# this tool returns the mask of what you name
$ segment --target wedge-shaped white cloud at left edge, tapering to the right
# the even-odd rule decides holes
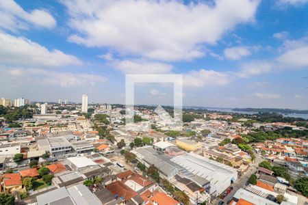
[[[73,55],[62,51],[49,51],[44,46],[27,38],[15,37],[0,32],[0,63],[16,66],[66,66],[81,65]]]

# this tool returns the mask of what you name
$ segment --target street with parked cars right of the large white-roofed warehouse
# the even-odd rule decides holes
[[[233,184],[231,184],[231,186],[233,187],[231,193],[229,193],[226,197],[224,197],[223,200],[221,200],[220,197],[216,198],[211,202],[211,204],[218,204],[218,202],[220,201],[224,202],[224,204],[227,204],[227,202],[232,199],[233,195],[235,194],[236,191],[238,191],[238,189],[246,187],[246,182],[248,178],[251,177],[251,174],[257,171],[259,163],[263,161],[263,159],[261,159],[261,157],[258,156],[257,153],[255,153],[255,156],[256,156],[255,163],[251,164],[251,167],[249,167],[248,170],[244,172],[244,174],[242,174],[240,178],[238,178],[238,180],[236,180]]]

